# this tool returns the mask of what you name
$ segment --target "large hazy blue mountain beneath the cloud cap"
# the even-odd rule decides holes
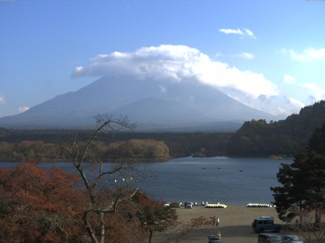
[[[194,81],[102,77],[88,86],[0,118],[10,128],[89,128],[98,113],[128,115],[150,129],[200,127],[216,121],[279,117],[248,107],[220,91]],[[145,129],[145,128],[144,128]]]

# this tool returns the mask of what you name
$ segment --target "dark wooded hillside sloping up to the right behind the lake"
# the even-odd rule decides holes
[[[231,137],[227,148],[228,154],[258,156],[294,155],[305,152],[308,139],[314,130],[321,128],[324,123],[324,100],[305,106],[299,114],[292,114],[278,122],[267,123],[263,119],[246,121]]]

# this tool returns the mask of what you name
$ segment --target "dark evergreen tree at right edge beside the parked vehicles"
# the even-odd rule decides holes
[[[296,155],[290,165],[281,164],[277,178],[282,185],[271,187],[281,220],[293,219],[302,209],[325,207],[325,155],[315,152],[321,152],[318,145],[323,143],[325,136],[316,129],[308,153]]]

